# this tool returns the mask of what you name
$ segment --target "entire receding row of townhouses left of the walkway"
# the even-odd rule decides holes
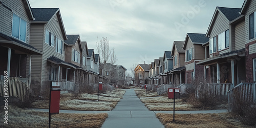
[[[31,8],[28,0],[13,0],[0,1],[0,11],[1,96],[5,76],[9,86],[27,85],[35,96],[44,95],[50,81],[108,83],[100,73],[99,54],[79,35],[66,34],[59,8]]]

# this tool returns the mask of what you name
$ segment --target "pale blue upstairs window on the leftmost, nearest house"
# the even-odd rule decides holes
[[[12,36],[26,42],[27,22],[13,13]]]

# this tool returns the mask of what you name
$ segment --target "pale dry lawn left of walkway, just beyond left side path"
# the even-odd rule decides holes
[[[101,94],[98,100],[97,94],[79,94],[78,96],[66,93],[60,95],[61,110],[84,110],[84,111],[111,111],[117,102],[123,97],[125,90],[107,91]],[[31,103],[33,108],[49,109],[49,100],[37,100]]]

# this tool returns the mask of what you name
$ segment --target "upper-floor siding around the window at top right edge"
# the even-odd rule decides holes
[[[247,10],[245,12],[245,42],[246,43],[256,40],[256,38],[249,39],[249,15],[255,11],[256,11],[256,1],[250,1],[247,7]]]

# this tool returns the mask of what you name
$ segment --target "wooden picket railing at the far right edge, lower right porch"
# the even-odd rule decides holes
[[[228,91],[228,111],[241,105],[256,103],[256,83],[240,83]]]

